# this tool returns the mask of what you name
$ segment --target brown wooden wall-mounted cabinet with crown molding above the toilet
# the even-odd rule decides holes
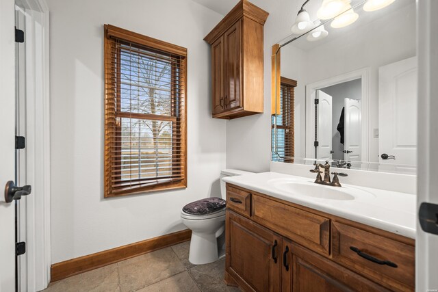
[[[211,44],[213,118],[263,113],[263,25],[268,17],[242,0],[204,38]]]

